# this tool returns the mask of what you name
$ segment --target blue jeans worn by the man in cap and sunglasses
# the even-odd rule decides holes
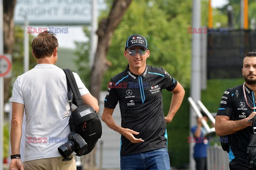
[[[170,170],[170,159],[167,148],[150,150],[139,154],[120,157],[121,170]]]

